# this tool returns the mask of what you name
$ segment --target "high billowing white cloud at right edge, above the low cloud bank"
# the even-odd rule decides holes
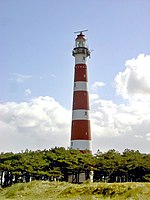
[[[117,93],[126,99],[150,99],[150,55],[127,60],[125,67],[115,78]]]

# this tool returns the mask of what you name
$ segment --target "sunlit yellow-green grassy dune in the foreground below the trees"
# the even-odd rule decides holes
[[[0,200],[149,200],[150,183],[33,181],[0,190]]]

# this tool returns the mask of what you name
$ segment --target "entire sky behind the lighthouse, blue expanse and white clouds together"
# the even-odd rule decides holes
[[[93,153],[150,153],[150,1],[0,0],[0,152],[70,147],[85,32]]]

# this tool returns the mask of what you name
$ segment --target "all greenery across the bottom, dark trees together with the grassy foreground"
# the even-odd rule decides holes
[[[91,169],[94,183],[89,177],[69,183],[70,173]],[[94,155],[63,147],[1,153],[0,172],[0,200],[150,199],[150,154],[129,149]]]

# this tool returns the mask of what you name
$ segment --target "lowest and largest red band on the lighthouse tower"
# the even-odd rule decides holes
[[[90,120],[73,120],[71,140],[91,140]]]

